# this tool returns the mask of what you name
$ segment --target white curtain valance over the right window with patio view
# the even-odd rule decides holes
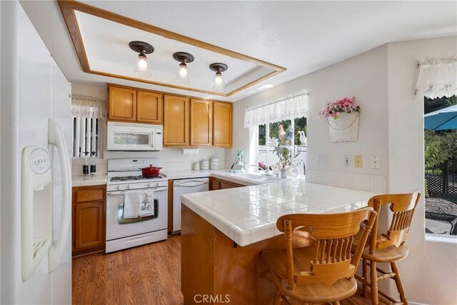
[[[457,94],[457,56],[427,59],[419,68],[415,95],[436,99]]]

